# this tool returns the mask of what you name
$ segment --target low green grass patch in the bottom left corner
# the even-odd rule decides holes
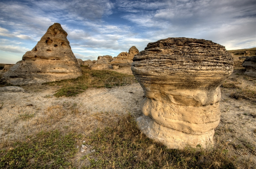
[[[29,136],[23,142],[16,141],[0,151],[0,168],[71,168],[68,159],[77,152],[77,137],[54,130]]]

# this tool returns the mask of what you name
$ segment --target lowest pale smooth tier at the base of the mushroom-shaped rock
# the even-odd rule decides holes
[[[161,126],[145,115],[138,117],[136,122],[143,134],[170,149],[184,149],[187,146],[195,148],[197,145],[208,148],[213,145],[214,129],[202,135],[188,134]]]

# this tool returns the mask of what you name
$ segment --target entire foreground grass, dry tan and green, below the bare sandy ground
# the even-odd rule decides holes
[[[29,135],[19,141],[1,143],[2,168],[76,168],[73,159],[79,152],[75,147],[83,144],[83,140],[96,151],[79,157],[91,163],[82,168],[237,168],[250,165],[230,156],[226,142],[217,142],[207,151],[200,147],[169,150],[142,134],[131,115],[79,111],[79,105],[74,103],[47,107],[28,120],[24,127],[29,129]],[[40,154],[39,150],[47,153]]]

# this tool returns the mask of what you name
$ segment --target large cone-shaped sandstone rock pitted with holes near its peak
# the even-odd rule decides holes
[[[14,85],[26,85],[82,75],[67,35],[60,24],[51,25],[32,51],[27,51],[2,79]]]

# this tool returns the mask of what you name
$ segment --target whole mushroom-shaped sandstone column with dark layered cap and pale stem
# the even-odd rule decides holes
[[[209,40],[167,38],[135,55],[132,73],[144,95],[136,121],[168,148],[206,148],[220,121],[220,85],[233,71],[224,46]]]

